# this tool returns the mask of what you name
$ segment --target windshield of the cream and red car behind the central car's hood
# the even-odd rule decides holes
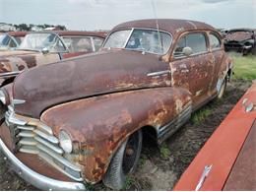
[[[19,47],[19,49],[38,51],[41,51],[43,48],[47,48],[49,52],[66,51],[58,35],[51,32],[27,34]]]

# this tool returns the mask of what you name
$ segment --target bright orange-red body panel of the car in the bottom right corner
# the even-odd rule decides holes
[[[252,102],[254,108],[245,112],[242,104]],[[242,96],[223,123],[191,162],[173,190],[195,190],[206,165],[213,165],[200,190],[223,190],[224,184],[237,159],[256,118],[256,83]],[[251,156],[250,158],[253,158]]]

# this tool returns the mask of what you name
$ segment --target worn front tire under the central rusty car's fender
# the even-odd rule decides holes
[[[142,151],[142,131],[132,134],[117,150],[103,178],[105,186],[120,190],[134,171]]]

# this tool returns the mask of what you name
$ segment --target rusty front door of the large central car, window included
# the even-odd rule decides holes
[[[185,47],[192,49],[191,54],[184,53]],[[170,62],[172,84],[189,90],[194,107],[209,98],[210,65],[214,65],[214,59],[209,54],[206,32],[187,32],[181,35]]]

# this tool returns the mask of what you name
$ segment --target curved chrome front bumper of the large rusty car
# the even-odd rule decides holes
[[[54,190],[54,191],[71,191],[71,190],[86,190],[86,186],[80,182],[66,182],[55,180],[37,172],[33,171],[21,160],[18,160],[6,147],[4,142],[0,139],[0,151],[3,152],[4,156],[13,165],[15,171],[27,182],[31,183],[38,189],[41,190]]]

